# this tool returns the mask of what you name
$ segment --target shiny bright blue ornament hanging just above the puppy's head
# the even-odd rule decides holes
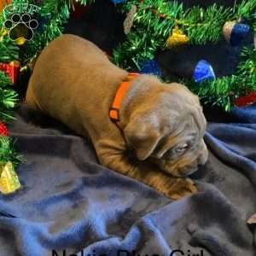
[[[216,77],[212,66],[207,61],[201,60],[195,67],[193,79],[195,82],[201,82],[207,79],[216,79]]]

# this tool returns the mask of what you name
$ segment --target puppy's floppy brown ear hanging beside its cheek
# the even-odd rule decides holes
[[[154,119],[133,119],[125,126],[125,140],[135,149],[138,160],[146,160],[160,141],[160,131]]]

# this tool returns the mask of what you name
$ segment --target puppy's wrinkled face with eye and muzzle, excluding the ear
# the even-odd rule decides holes
[[[195,172],[198,166],[206,163],[208,152],[203,139],[193,129],[194,125],[190,120],[181,125],[182,129],[163,137],[148,160],[173,176]]]

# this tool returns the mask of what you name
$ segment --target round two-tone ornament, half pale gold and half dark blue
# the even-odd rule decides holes
[[[227,21],[223,27],[224,38],[232,46],[238,46],[247,38],[250,26],[236,21]]]

